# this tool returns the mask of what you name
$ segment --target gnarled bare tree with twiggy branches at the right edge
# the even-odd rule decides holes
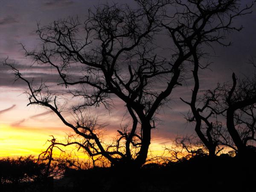
[[[206,94],[207,108],[218,116],[226,119],[226,128],[214,133],[220,140],[220,145],[233,148],[243,156],[255,152],[251,144],[256,141],[256,95],[255,74],[252,78],[237,79],[232,75],[232,84],[218,86],[208,90]]]

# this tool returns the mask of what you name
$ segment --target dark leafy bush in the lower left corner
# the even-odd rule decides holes
[[[53,178],[46,175],[46,167],[31,155],[0,159],[0,191],[48,191]]]

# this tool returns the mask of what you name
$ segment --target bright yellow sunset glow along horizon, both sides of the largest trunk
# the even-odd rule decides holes
[[[56,128],[32,128],[15,127],[12,125],[0,124],[0,157],[19,157],[34,155],[37,157],[50,145],[47,140],[52,139],[49,135],[54,135],[58,141],[65,139],[67,130]],[[112,133],[113,134],[113,133]],[[106,135],[110,137],[110,135]],[[77,151],[75,146],[63,147],[66,151],[75,152],[79,159],[88,159],[83,151]],[[54,149],[54,154],[58,156],[61,151]],[[163,155],[163,145],[157,141],[151,143],[148,152],[149,156]]]

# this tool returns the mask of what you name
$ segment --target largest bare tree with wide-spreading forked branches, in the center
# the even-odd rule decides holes
[[[28,105],[52,110],[77,135],[71,136],[67,143],[52,145],[77,145],[90,157],[103,156],[112,166],[128,168],[145,163],[155,115],[161,106],[167,105],[175,87],[188,77],[191,66],[195,88],[189,105],[195,112],[199,134],[201,117],[197,115],[195,100],[199,58],[204,54],[202,45],[215,42],[224,45],[222,31],[236,29],[231,26],[233,18],[250,9],[239,10],[236,0],[135,2],[137,9],[116,4],[99,6],[95,12],[89,11],[83,24],[78,18],[68,18],[49,26],[38,25],[41,48],[28,51],[23,46],[26,57],[56,70],[61,89],[83,99],[70,107],[75,122],[63,115],[61,94],[54,93],[45,83],[34,86],[15,66],[8,64],[17,79],[28,84]],[[156,54],[157,38],[164,32],[168,32],[166,38],[172,42],[171,46],[165,45],[173,50],[169,58]],[[74,71],[79,74],[74,75]],[[106,144],[100,134],[102,125],[95,117],[88,116],[86,110],[99,106],[111,110],[116,98],[125,105],[132,125],[123,126],[116,140]]]

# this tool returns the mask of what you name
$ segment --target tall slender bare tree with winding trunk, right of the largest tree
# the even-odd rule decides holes
[[[240,31],[242,27],[232,25],[234,18],[250,13],[251,3],[245,8],[239,9],[239,1],[236,0],[188,0],[176,1],[177,5],[183,7],[180,12],[177,12],[176,17],[182,17],[183,22],[180,23],[176,17],[176,27],[167,27],[172,37],[175,37],[175,44],[177,45],[177,55],[189,54],[187,60],[192,63],[194,88],[192,90],[191,101],[187,102],[192,111],[192,116],[187,119],[190,122],[195,122],[195,131],[200,140],[206,146],[209,155],[215,156],[220,149],[218,148],[218,138],[213,138],[212,131],[220,129],[218,121],[211,121],[211,118],[216,118],[212,111],[207,112],[207,105],[210,100],[201,102],[198,105],[198,91],[200,80],[198,78],[198,71],[207,68],[208,65],[200,63],[200,58],[205,55],[201,49],[202,44],[211,46],[212,43],[218,43],[223,46],[229,46],[230,43],[224,42],[225,34],[232,30]],[[200,100],[200,98],[199,98]],[[203,105],[202,105],[203,104]]]

